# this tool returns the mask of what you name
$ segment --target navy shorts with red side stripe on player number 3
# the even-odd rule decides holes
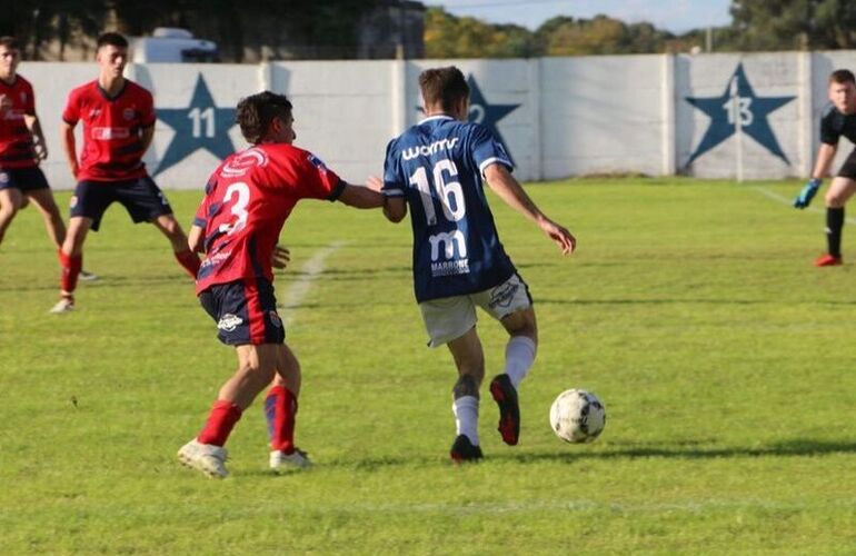
[[[228,346],[286,341],[273,285],[265,278],[216,284],[199,294],[199,302],[217,322],[217,337]]]

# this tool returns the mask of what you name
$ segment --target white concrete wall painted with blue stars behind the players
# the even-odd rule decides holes
[[[298,145],[351,181],[378,175],[387,141],[421,117],[419,72],[448,63],[468,76],[470,117],[500,135],[521,179],[754,179],[810,171],[826,79],[856,67],[856,51],[138,64],[127,75],[155,93],[160,121],[146,160],[172,189],[201,187],[220,158],[245,147],[229,126],[235,105],[266,88],[291,97]],[[20,71],[33,82],[48,136],[46,173],[56,188],[73,187],[60,115],[68,91],[93,79],[97,67],[28,62]],[[850,149],[843,143],[838,162]]]

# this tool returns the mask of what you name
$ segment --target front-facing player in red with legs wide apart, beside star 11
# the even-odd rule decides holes
[[[122,76],[128,41],[115,32],[98,38],[98,79],[72,90],[62,112],[63,147],[78,180],[71,198],[68,235],[60,250],[60,300],[51,312],[74,307],[74,288],[83,260],[87,232],[98,231],[101,216],[121,202],[135,222],[153,224],[172,245],[176,259],[196,278],[199,257],[188,249],[187,236],[172,208],[149,177],[142,156],[155,133],[151,93]],[[74,127],[83,122],[83,148],[78,160]]]

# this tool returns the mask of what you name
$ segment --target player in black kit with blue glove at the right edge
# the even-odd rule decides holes
[[[812,172],[812,179],[794,200],[794,207],[804,209],[829,172],[838,139],[844,136],[856,142],[856,77],[846,69],[833,71],[829,76],[830,106],[820,119],[820,149]],[[856,192],[856,149],[847,156],[833,183],[826,191],[826,245],[827,252],[815,260],[815,266],[832,267],[842,264],[842,230],[844,206]]]

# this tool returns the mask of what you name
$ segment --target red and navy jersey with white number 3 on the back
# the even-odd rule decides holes
[[[345,186],[311,152],[291,145],[259,145],[223,160],[193,220],[205,230],[206,252],[197,294],[248,278],[272,281],[270,257],[297,201],[334,201]]]

